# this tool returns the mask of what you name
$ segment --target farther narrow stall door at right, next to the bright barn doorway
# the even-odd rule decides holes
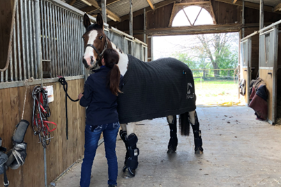
[[[252,54],[252,38],[241,40],[241,67],[243,79],[246,81],[245,102],[250,103],[249,90],[251,81],[251,54]]]

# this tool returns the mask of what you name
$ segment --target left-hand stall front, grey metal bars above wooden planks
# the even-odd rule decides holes
[[[21,119],[29,122],[24,137],[27,143],[25,163],[17,170],[8,168],[8,180],[10,186],[47,186],[84,154],[85,108],[69,99],[66,106],[66,93],[59,83],[59,77],[64,77],[68,95],[77,99],[91,73],[82,64],[84,12],[57,0],[0,1],[0,10],[3,13],[0,18],[2,147],[10,150],[15,126]],[[96,22],[95,17],[90,18]],[[108,24],[105,30],[119,49],[147,59],[144,42],[109,28]],[[39,132],[31,127],[35,86],[50,86],[49,93],[52,92],[48,105],[51,115],[47,119],[50,130],[45,131],[48,133],[45,139],[42,134],[38,137]],[[0,183],[3,184],[3,177]]]

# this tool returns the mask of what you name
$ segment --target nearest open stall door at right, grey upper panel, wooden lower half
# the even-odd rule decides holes
[[[268,90],[268,122],[275,123],[278,70],[278,26],[259,33],[259,77]]]

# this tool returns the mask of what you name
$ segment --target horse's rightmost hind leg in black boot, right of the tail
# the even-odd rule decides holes
[[[189,112],[189,121],[193,130],[195,154],[203,154],[203,143],[201,138],[201,131],[199,130],[199,121],[196,111]]]

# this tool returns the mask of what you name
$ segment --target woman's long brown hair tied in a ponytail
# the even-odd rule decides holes
[[[117,66],[119,62],[119,54],[114,49],[106,49],[103,53],[103,59],[105,60],[105,66],[112,69],[107,74],[109,89],[113,95],[117,96],[118,93],[121,93],[119,90],[120,70]]]

